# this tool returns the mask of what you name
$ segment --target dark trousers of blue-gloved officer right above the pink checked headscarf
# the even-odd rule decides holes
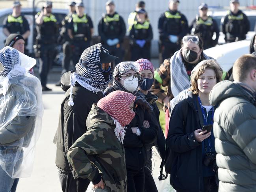
[[[144,46],[140,48],[137,45],[131,46],[131,61],[135,62],[138,59],[151,59],[150,46]]]

